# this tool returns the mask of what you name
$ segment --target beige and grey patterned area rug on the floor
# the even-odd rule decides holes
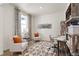
[[[29,56],[56,56],[57,53],[51,48],[52,46],[53,44],[48,41],[35,42],[28,49]]]

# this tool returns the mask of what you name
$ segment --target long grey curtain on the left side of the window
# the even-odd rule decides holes
[[[21,20],[20,20],[20,10],[15,8],[15,35],[21,36]]]

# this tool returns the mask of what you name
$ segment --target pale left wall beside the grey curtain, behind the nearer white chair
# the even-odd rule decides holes
[[[3,4],[0,7],[2,8],[2,15],[0,15],[0,17],[3,17],[3,25],[0,27],[2,28],[1,34],[3,35],[3,50],[7,50],[10,47],[10,41],[15,33],[15,9],[9,4]]]

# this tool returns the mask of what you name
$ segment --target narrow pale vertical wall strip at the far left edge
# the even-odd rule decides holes
[[[3,54],[3,10],[0,6],[0,55]]]

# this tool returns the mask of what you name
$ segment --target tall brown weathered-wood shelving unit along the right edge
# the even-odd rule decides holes
[[[77,37],[77,40],[78,40],[79,35],[75,35],[75,34],[71,35],[68,32],[68,30],[69,30],[68,27],[71,26],[72,22],[75,22],[75,21],[79,22],[79,3],[71,3],[68,6],[68,9],[66,11],[66,21],[65,21],[66,29],[67,29],[66,38],[68,39],[68,41],[70,41],[68,45],[69,45],[70,51],[72,51],[71,52],[72,55],[75,55],[73,53],[75,53],[76,49],[78,48],[78,47],[75,47],[76,45],[78,46],[78,44],[75,43],[75,41],[76,41],[75,37]],[[74,29],[74,28],[70,28],[70,29],[72,31],[72,29]],[[75,28],[75,30],[77,30],[77,29]],[[77,43],[79,43],[79,42],[77,41]],[[79,49],[77,49],[77,50],[79,51]]]

